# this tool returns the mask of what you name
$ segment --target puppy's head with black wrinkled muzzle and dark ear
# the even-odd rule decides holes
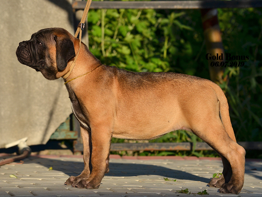
[[[40,71],[45,78],[54,80],[76,56],[74,37],[65,29],[48,28],[34,33],[30,40],[19,43],[18,61]]]

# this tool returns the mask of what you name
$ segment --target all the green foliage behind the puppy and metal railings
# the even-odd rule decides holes
[[[261,141],[261,9],[218,9],[225,53],[249,57],[244,67],[227,67],[221,84],[238,141]],[[199,10],[89,10],[89,49],[102,63],[137,72],[173,71],[209,79]],[[128,142],[112,139],[112,142]],[[151,142],[201,142],[174,131]],[[120,154],[127,154],[122,152]],[[217,156],[212,151],[147,151],[138,155]]]

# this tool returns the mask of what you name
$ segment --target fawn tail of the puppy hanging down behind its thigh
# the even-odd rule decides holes
[[[228,107],[228,102],[227,102],[227,98],[223,92],[223,90],[215,83],[213,84],[213,89],[215,90],[216,94],[217,94],[217,98],[219,100],[220,103],[220,107],[219,107],[219,112],[220,112],[220,119],[225,127],[225,130],[227,132],[227,134],[229,135],[229,137],[236,142],[236,137],[232,128],[232,124],[230,121],[230,117],[229,117],[229,107]]]

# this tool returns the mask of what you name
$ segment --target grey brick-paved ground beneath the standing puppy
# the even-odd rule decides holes
[[[80,156],[31,156],[24,159],[23,164],[0,167],[0,196],[200,196],[196,193],[206,190],[209,197],[261,197],[261,164],[261,160],[247,161],[242,192],[225,195],[206,184],[213,173],[222,171],[220,159],[111,156],[110,172],[99,189],[87,190],[64,185],[69,176],[81,173],[84,164]],[[10,177],[11,174],[17,179]],[[165,181],[164,178],[176,179],[176,182]],[[186,188],[191,194],[176,193]]]

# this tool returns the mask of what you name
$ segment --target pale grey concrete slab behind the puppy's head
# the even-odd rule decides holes
[[[62,78],[46,80],[18,62],[18,43],[48,27],[73,30],[68,0],[1,0],[0,6],[0,148],[28,137],[27,144],[46,143],[71,113]]]

